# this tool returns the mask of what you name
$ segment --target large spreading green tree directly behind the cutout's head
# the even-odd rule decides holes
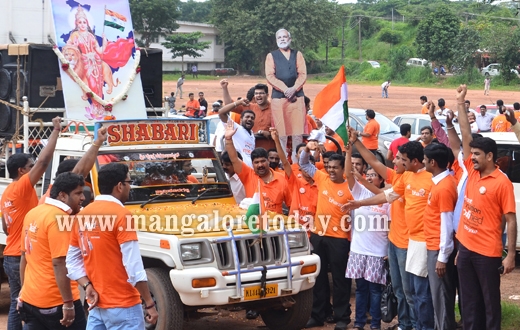
[[[267,54],[276,49],[275,33],[287,29],[292,47],[315,48],[337,25],[328,0],[211,0],[212,23],[226,43],[254,54],[261,73]]]

